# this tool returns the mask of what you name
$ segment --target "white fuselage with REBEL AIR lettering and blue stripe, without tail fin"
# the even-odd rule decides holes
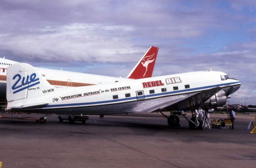
[[[198,71],[116,83],[48,91],[33,102],[46,101],[40,108],[19,109],[56,114],[111,114],[152,112],[162,102],[177,101],[189,94],[214,87],[231,88],[233,93],[241,83],[236,79],[221,80],[226,73]],[[29,91],[28,91],[29,92]],[[28,93],[29,94],[29,93]],[[27,104],[32,102],[25,102]],[[10,108],[20,108],[24,101],[8,102]]]

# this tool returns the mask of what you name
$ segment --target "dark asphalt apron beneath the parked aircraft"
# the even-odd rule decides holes
[[[234,130],[191,130],[181,116],[182,126],[170,127],[159,113],[90,116],[85,125],[59,123],[56,115],[45,124],[0,119],[0,162],[2,168],[255,167],[256,134],[247,130],[254,119],[236,115]]]

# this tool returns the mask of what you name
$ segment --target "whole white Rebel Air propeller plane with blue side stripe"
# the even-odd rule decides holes
[[[55,88],[26,63],[7,68],[7,111],[46,114],[106,115],[136,112],[205,109],[224,105],[241,83],[218,71],[198,71],[149,77],[87,87]],[[185,117],[185,116],[184,116]],[[169,125],[178,125],[170,115]],[[185,117],[186,118],[186,117]],[[190,127],[202,121],[186,118]]]

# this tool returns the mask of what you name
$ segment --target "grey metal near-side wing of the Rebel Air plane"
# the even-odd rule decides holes
[[[184,95],[174,95],[171,97],[161,97],[158,99],[149,99],[140,101],[133,107],[126,107],[122,112],[157,112],[170,110],[188,110],[199,107],[210,97],[221,90],[221,87],[199,91],[196,93],[188,93]]]

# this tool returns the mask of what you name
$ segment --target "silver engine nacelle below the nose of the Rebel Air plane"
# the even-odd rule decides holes
[[[226,102],[227,102],[226,93],[225,91],[220,90],[218,91],[218,93],[216,93],[215,95],[210,97],[210,99],[208,99],[206,102],[204,102],[204,104],[201,107],[208,108],[210,110],[216,107],[226,105]]]

